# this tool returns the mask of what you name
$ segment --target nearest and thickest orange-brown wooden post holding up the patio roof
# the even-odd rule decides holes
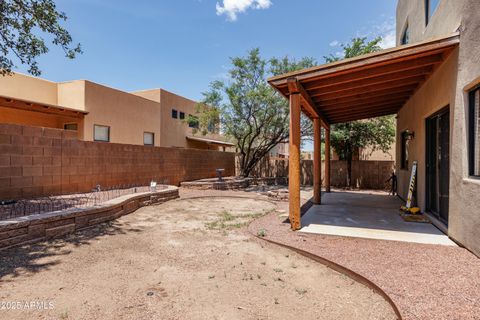
[[[290,94],[290,142],[288,158],[289,218],[292,230],[300,224],[300,94]]]

